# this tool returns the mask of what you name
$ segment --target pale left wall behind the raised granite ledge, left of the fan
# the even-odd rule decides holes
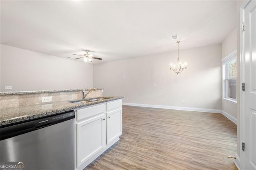
[[[93,87],[93,65],[8,45],[1,48],[1,90],[35,91]],[[5,90],[12,85],[12,90]]]

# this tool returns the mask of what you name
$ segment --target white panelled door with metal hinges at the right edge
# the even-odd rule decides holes
[[[256,170],[256,0],[244,8],[244,168]]]

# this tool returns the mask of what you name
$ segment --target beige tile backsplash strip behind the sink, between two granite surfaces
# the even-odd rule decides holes
[[[88,93],[88,91],[89,90],[87,90],[86,93]],[[86,98],[102,97],[102,91],[102,89],[92,91]],[[41,104],[42,97],[47,96],[52,96],[52,102],[80,100],[83,99],[83,91],[0,95],[0,109]]]

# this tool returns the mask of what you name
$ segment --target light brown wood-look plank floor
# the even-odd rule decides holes
[[[236,125],[221,114],[123,106],[120,141],[90,170],[236,170]]]

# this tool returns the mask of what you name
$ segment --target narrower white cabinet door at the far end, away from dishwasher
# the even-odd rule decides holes
[[[107,112],[107,144],[122,134],[122,108]]]

